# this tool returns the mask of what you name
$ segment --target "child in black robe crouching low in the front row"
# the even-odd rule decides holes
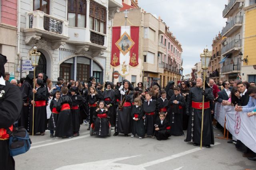
[[[165,113],[161,112],[155,124],[156,139],[159,141],[168,139],[169,129],[170,126],[168,126],[168,121],[165,119]]]

